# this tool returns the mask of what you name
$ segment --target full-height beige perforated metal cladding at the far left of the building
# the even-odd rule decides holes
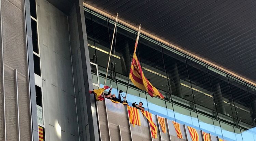
[[[5,112],[6,112],[6,138],[8,141],[17,141],[17,128],[20,127],[20,140],[29,141],[29,93],[27,82],[27,47],[25,38],[25,15],[23,0],[1,0],[2,8],[2,39],[4,62],[4,88],[5,88]],[[2,62],[2,61],[1,61]],[[16,102],[16,79],[14,69],[17,69],[17,89],[19,97],[19,113]],[[1,68],[2,70],[2,68]],[[2,83],[2,81],[0,82]],[[0,85],[1,86],[1,85]],[[2,89],[2,88],[1,88]],[[2,92],[2,90],[1,90]],[[0,95],[0,114],[3,115],[3,94]],[[18,115],[20,126],[18,126]],[[4,136],[3,116],[0,116],[0,138]],[[3,139],[0,139],[3,140]]]

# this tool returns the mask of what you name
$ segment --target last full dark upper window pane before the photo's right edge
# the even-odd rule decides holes
[[[229,78],[229,83],[231,94],[233,96],[233,102],[236,107],[237,118],[245,123],[253,125],[251,118],[253,114],[250,112],[252,111],[252,107],[245,83],[236,81],[232,78]]]

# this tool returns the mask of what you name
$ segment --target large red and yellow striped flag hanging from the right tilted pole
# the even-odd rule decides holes
[[[147,80],[147,78],[144,76],[144,73],[142,72],[140,62],[136,56],[136,49],[139,41],[139,36],[140,36],[140,27],[139,27],[139,32],[138,32],[137,40],[135,43],[135,47],[134,47],[129,78],[131,79],[131,82],[136,87],[142,90],[145,90],[151,97],[157,96],[163,99],[164,98],[163,95]]]

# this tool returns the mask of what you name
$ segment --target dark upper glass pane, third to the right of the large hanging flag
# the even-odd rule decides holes
[[[193,89],[195,103],[215,110],[211,84],[205,64],[187,57],[187,68]]]

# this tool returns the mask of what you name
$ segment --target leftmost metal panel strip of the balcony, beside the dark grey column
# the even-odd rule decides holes
[[[100,122],[100,134],[102,141],[109,140],[108,127],[106,125],[106,114],[105,114],[105,105],[104,102],[97,102],[97,108],[99,113],[99,122]]]

